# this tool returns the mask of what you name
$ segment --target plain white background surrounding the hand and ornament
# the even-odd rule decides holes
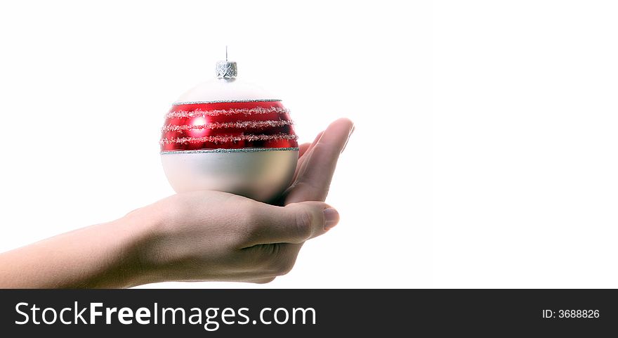
[[[356,124],[341,222],[268,285],[617,287],[612,1],[0,4],[0,251],[173,193],[163,115],[212,77],[278,94],[301,141]]]

